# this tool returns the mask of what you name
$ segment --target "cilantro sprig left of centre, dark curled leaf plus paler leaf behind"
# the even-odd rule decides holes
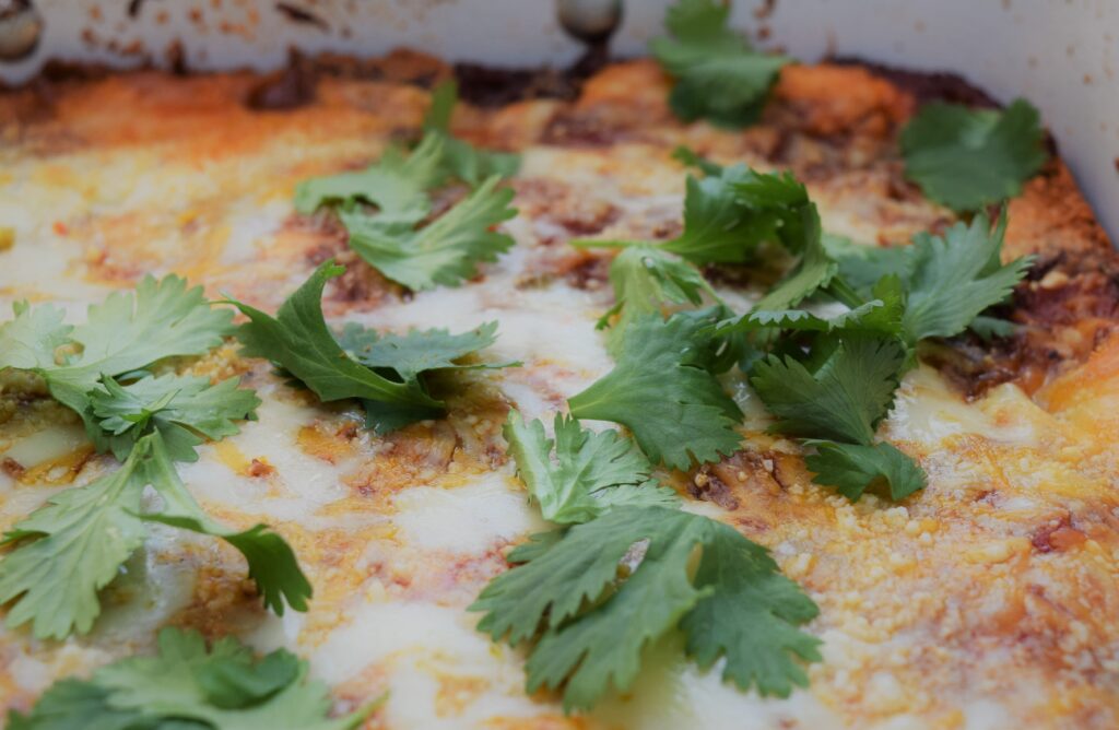
[[[233,301],[250,320],[237,330],[245,354],[273,362],[325,402],[358,399],[366,424],[378,433],[441,415],[444,403],[430,393],[424,373],[461,367],[451,361],[491,343],[492,326],[459,336],[432,330],[399,337],[351,325],[339,343],[322,315],[322,291],[345,270],[325,262],[275,317]]]

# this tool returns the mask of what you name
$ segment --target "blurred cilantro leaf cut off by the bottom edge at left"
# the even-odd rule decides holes
[[[375,706],[331,719],[332,704],[326,685],[308,678],[307,663],[285,649],[254,659],[236,639],[223,638],[207,649],[197,631],[166,628],[154,656],[120,659],[86,681],[64,680],[30,714],[9,714],[9,724],[23,730],[351,730]],[[77,711],[81,724],[57,724]]]

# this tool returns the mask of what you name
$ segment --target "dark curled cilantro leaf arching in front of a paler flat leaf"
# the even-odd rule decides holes
[[[294,375],[326,402],[347,397],[439,411],[440,401],[415,384],[383,377],[350,358],[322,316],[327,281],[346,271],[327,261],[281,305],[273,318],[237,301],[250,321],[237,330],[245,354],[264,357]]]

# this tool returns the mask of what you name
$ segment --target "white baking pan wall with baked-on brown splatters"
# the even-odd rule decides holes
[[[377,55],[411,46],[520,66],[566,64],[581,52],[556,21],[555,0],[31,1],[43,32],[27,56],[0,62],[8,82],[49,58],[166,63],[176,43],[190,68],[275,67],[291,47]],[[0,0],[0,10],[13,4]],[[627,0],[614,53],[643,53],[666,4]],[[999,100],[1028,97],[1119,241],[1119,1],[739,0],[735,18],[763,45],[807,60],[951,71]]]

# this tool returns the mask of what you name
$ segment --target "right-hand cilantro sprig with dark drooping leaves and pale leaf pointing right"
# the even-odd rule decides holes
[[[817,235],[814,255],[830,278],[811,291],[846,303],[848,311],[825,319],[786,309],[788,299],[770,292],[721,326],[723,333],[768,333],[771,341],[773,333],[784,333],[773,346],[778,354],[753,364],[750,382],[779,419],[773,430],[815,447],[806,464],[818,484],[852,499],[878,481],[894,499],[925,485],[921,468],[896,447],[876,442],[874,431],[918,345],[986,326],[976,325],[981,312],[1005,301],[1025,275],[1031,258],[1002,263],[1005,232],[1004,212],[994,228],[978,214],[970,225],[957,223],[943,236],[922,233],[899,249],[864,252],[824,245]],[[781,307],[771,308],[774,299]]]

